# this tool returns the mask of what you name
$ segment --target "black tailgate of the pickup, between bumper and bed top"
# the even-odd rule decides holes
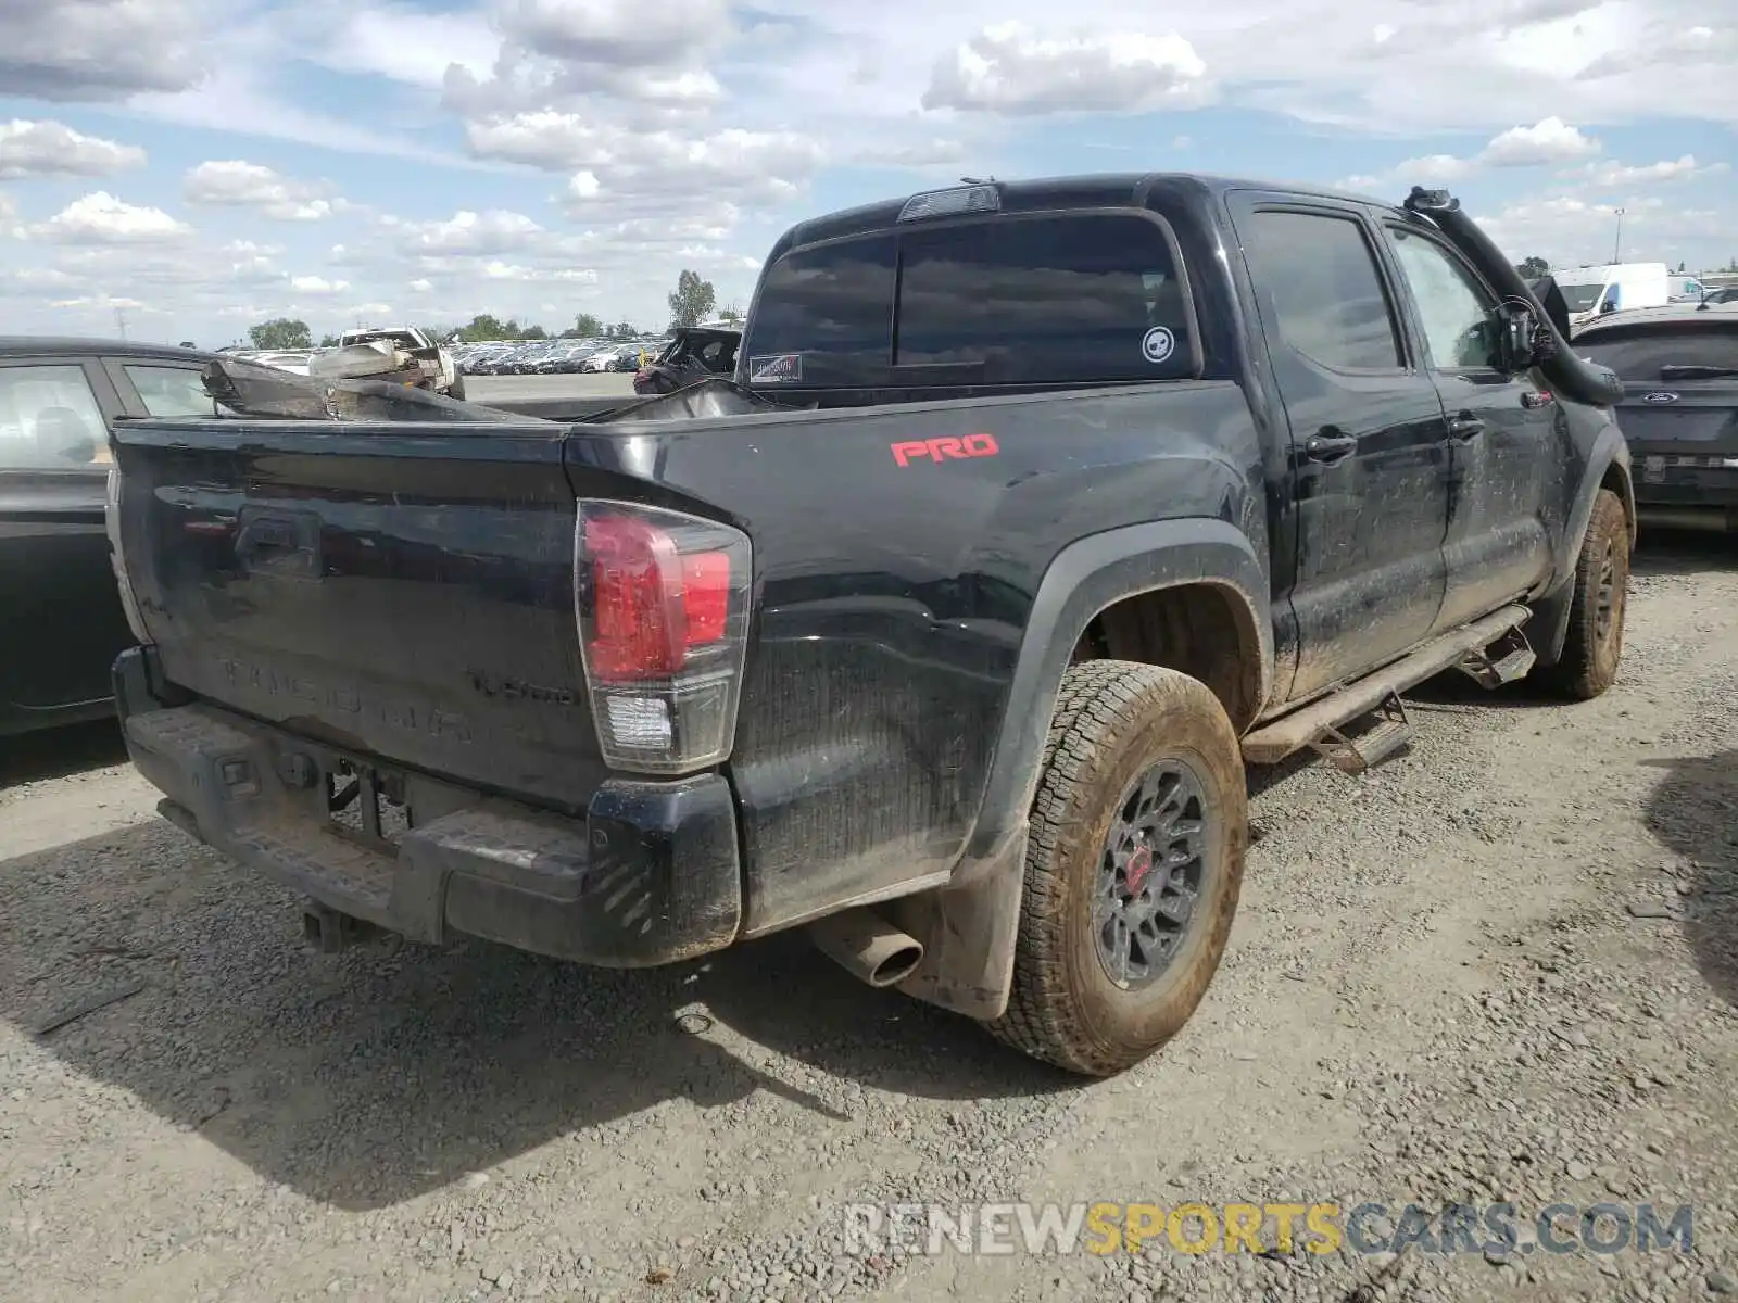
[[[123,422],[120,546],[165,676],[567,810],[603,777],[561,427]]]

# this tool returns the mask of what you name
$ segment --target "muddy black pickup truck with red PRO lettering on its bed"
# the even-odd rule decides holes
[[[327,945],[806,928],[1102,1075],[1215,973],[1246,763],[1356,771],[1451,667],[1618,671],[1622,386],[1439,191],[819,217],[702,386],[753,410],[118,427],[116,690],[165,817]]]

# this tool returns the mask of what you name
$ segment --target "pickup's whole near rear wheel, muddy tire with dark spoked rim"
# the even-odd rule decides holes
[[[1243,757],[1206,685],[1072,665],[1032,803],[1013,990],[989,1030],[1095,1077],[1144,1060],[1218,969],[1246,846]]]

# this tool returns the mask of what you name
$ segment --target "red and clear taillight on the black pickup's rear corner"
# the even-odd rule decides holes
[[[574,613],[598,745],[614,770],[730,756],[749,624],[749,537],[700,516],[582,500]]]

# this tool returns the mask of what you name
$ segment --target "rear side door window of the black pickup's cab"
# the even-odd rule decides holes
[[[1257,212],[1244,233],[1257,292],[1288,346],[1333,370],[1399,370],[1389,297],[1364,229],[1350,217]]]

